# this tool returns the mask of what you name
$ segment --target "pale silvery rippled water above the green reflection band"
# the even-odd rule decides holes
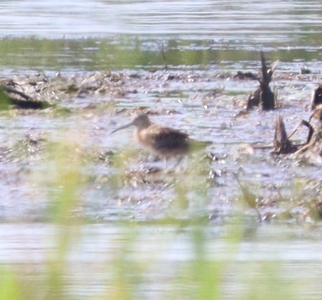
[[[2,36],[139,34],[259,45],[321,44],[320,0],[11,0],[1,1],[0,9]]]

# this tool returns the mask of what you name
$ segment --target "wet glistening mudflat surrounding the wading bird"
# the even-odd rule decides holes
[[[1,112],[2,221],[48,218],[52,143],[77,150],[86,165],[75,216],[91,221],[197,215],[221,220],[236,209],[256,219],[254,205],[262,220],[319,219],[320,166],[272,156],[270,150],[276,115],[285,116],[289,129],[305,119],[311,87],[322,75],[276,72],[272,84],[279,107],[245,114],[247,96],[258,82],[236,75],[151,70],[1,76],[2,85],[53,105],[43,110],[10,106]],[[164,174],[161,162],[136,144],[132,131],[109,135],[137,112],[192,138],[210,139],[214,146]],[[295,139],[306,135],[300,132]],[[195,165],[200,168],[193,174]],[[255,202],[245,196],[236,173]]]

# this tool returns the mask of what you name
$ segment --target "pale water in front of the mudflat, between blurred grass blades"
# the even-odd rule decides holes
[[[258,227],[250,237],[232,246],[218,234],[222,229],[217,226],[212,224],[206,229],[205,255],[209,262],[226,262],[220,271],[224,275],[222,299],[240,299],[251,285],[247,279],[254,276],[253,272],[257,279],[269,272],[266,263],[276,264],[280,273],[275,275],[282,276],[280,285],[297,283],[293,288],[299,291],[299,299],[321,299],[316,280],[322,276],[321,268],[316,268],[322,261],[317,243],[321,229],[305,231],[296,225],[270,224]],[[185,289],[177,276],[183,270],[189,272],[189,262],[196,259],[191,230],[158,225],[141,225],[135,230],[109,224],[83,226],[81,238],[72,244],[67,259],[67,293],[75,299],[88,297],[89,291],[95,297],[111,289],[116,276],[113,262],[122,253],[129,265],[127,276],[140,276],[141,284],[135,285],[139,291],[135,293],[142,299],[152,295],[153,299],[164,299],[174,288]],[[136,237],[131,238],[132,242],[130,232]],[[34,281],[41,280],[55,247],[55,233],[55,227],[48,224],[0,225],[0,263],[12,268],[23,266],[20,275],[25,272]],[[145,271],[132,274],[133,264]],[[239,272],[243,272],[242,277]]]

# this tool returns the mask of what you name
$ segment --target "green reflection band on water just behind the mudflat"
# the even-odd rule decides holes
[[[164,69],[167,65],[206,69],[213,64],[259,61],[259,50],[233,48],[228,43],[218,44],[211,40],[4,38],[0,39],[0,68],[101,71]],[[312,47],[267,48],[266,53],[272,60],[285,62],[321,60],[319,49]]]

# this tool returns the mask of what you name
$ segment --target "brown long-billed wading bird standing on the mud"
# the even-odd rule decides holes
[[[136,127],[134,136],[144,147],[164,159],[165,168],[169,158],[179,157],[176,166],[182,155],[187,154],[190,150],[198,150],[211,144],[211,142],[191,140],[183,132],[154,124],[146,114],[134,116],[131,123],[113,130],[111,134],[130,126]]]

